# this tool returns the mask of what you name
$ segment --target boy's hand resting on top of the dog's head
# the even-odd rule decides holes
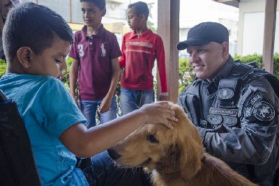
[[[173,129],[173,126],[169,123],[169,120],[178,121],[175,117],[174,110],[170,109],[168,102],[156,102],[151,104],[144,104],[140,111],[144,113],[145,123],[162,123]]]

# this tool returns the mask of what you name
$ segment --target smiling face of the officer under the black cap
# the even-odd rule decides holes
[[[189,63],[197,77],[211,82],[227,61],[228,43],[209,42],[202,46],[190,45],[187,52],[190,54]]]

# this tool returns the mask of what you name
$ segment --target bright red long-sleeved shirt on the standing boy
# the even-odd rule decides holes
[[[160,76],[161,92],[167,93],[167,76],[165,70],[165,51],[163,40],[151,30],[140,36],[134,31],[126,33],[122,41],[122,56],[120,67],[124,67],[121,74],[121,86],[135,90],[153,89],[152,68],[155,59]]]

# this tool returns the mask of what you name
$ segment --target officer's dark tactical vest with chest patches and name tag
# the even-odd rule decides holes
[[[241,112],[243,102],[245,100],[239,100],[241,90],[245,86],[248,79],[255,76],[264,76],[270,82],[274,92],[279,98],[279,81],[276,77],[271,75],[265,70],[255,67],[255,65],[243,64],[241,61],[235,61],[234,66],[229,72],[229,75],[225,79],[220,79],[218,84],[218,91],[213,100],[213,104],[209,109],[209,116],[202,116],[201,102],[200,102],[200,87],[202,84],[201,79],[197,79],[193,84],[188,86],[184,93],[180,96],[179,102],[183,105],[184,111],[188,114],[188,118],[195,123],[197,127],[208,129],[207,131],[222,132],[222,125],[230,127],[235,125],[240,127]],[[278,110],[278,108],[276,108]],[[204,134],[201,134],[204,139]],[[244,166],[246,171],[246,178],[254,180],[257,183],[261,182],[262,178],[266,176],[277,176],[276,170],[279,167],[279,135],[276,137],[276,144],[273,148],[273,153],[269,158],[268,162],[263,166],[248,165],[248,164],[234,164],[236,166]],[[273,165],[272,170],[270,165]],[[259,171],[261,171],[259,173]],[[256,176],[257,175],[257,176]],[[262,176],[259,176],[262,175]],[[261,178],[262,177],[262,178]]]

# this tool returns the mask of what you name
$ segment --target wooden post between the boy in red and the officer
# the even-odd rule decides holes
[[[179,3],[180,0],[158,1],[158,34],[164,42],[167,86],[172,102],[177,102],[179,95],[179,52],[176,49],[179,42]],[[160,91],[159,79],[157,91]]]

